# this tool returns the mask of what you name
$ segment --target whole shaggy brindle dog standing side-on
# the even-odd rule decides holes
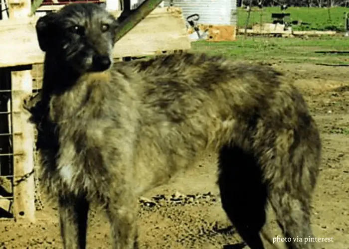
[[[117,26],[89,3],[36,24],[44,79],[26,109],[38,129],[42,183],[58,200],[64,248],[85,248],[93,201],[105,206],[113,248],[136,248],[137,198],[207,148],[219,153],[222,207],[251,249],[264,248],[267,200],[285,237],[313,237],[321,140],[299,91],[271,67],[221,56],[113,64]]]

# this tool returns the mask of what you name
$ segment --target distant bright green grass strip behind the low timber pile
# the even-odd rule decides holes
[[[346,7],[328,8],[318,7],[289,7],[286,13],[290,13],[290,20],[301,20],[309,25],[294,25],[294,30],[335,30],[345,31],[344,12],[349,11]],[[253,7],[248,27],[254,24],[272,22],[271,13],[281,13],[280,7],[264,7],[260,10]],[[330,13],[330,14],[329,14]],[[238,26],[245,27],[247,11],[238,8]]]

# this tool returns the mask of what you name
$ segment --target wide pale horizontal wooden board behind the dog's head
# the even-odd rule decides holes
[[[116,17],[121,11],[112,12]],[[35,23],[38,17],[0,21],[0,67],[42,63]],[[159,50],[189,49],[181,9],[156,8],[114,47],[114,58],[152,55]]]

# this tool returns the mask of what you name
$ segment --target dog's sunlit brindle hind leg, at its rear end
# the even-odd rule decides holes
[[[288,249],[314,249],[315,243],[301,242],[314,238],[310,226],[311,200],[319,174],[321,141],[317,130],[305,130],[294,142],[286,159],[280,161],[278,179],[271,179],[269,201],[283,234],[289,238]],[[296,140],[297,141],[297,140]],[[272,167],[266,167],[272,168]]]

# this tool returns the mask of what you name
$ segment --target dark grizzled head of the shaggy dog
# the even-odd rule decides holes
[[[117,19],[94,3],[72,3],[40,17],[40,49],[82,74],[110,68]]]

